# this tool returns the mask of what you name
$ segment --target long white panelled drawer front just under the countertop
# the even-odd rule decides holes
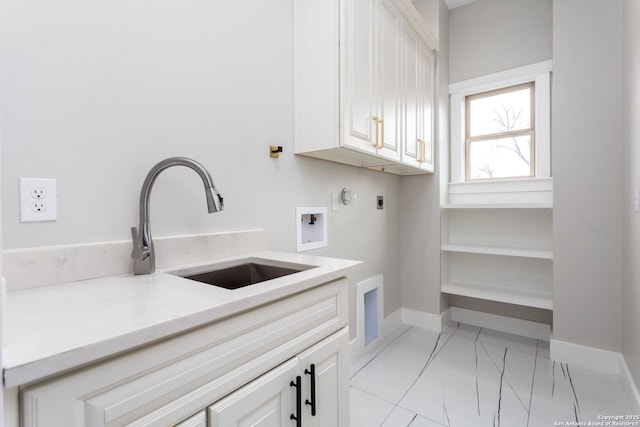
[[[178,422],[346,325],[346,299],[340,279],[29,387],[24,425]]]

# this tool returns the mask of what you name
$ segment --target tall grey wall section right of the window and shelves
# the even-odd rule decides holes
[[[622,16],[621,0],[553,3],[553,335],[612,351],[621,350]]]

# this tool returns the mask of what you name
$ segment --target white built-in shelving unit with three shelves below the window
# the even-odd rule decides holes
[[[458,187],[484,186],[465,185]],[[441,205],[443,293],[553,308],[553,199],[542,190],[544,197],[458,191]]]

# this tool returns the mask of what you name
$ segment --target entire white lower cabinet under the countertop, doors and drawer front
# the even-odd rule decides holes
[[[346,427],[347,289],[337,279],[23,387],[20,424]]]

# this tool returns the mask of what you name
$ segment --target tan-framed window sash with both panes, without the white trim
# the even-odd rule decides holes
[[[535,84],[465,98],[465,176],[474,179],[535,175]]]

